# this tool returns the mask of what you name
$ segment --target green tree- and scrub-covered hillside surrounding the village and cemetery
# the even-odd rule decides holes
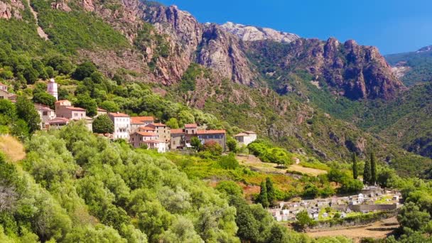
[[[18,96],[15,104],[0,100],[0,134],[14,141],[0,147],[0,242],[350,242],[311,239],[287,226],[313,222],[281,224],[268,207],[279,200],[358,194],[365,162],[374,156],[374,178],[365,183],[400,189],[409,202],[396,237],[426,242],[431,236],[432,85],[416,85],[387,101],[348,99],[303,70],[311,58],[298,57],[300,68],[293,70],[275,65],[291,48],[278,43],[268,43],[264,54],[247,53],[259,74],[255,86],[196,63],[185,65],[178,80],[163,79],[163,68],[178,68],[169,62],[185,61],[171,56],[184,43],[141,20],[136,26],[121,22],[125,12],[117,11],[117,1],[93,2],[116,13],[112,21],[77,1],[68,2],[71,11],[52,3],[30,2],[47,41],[38,36],[25,1],[23,19],[0,19],[0,82]],[[135,32],[128,32],[131,26]],[[102,68],[83,53],[102,56],[100,63],[119,61]],[[131,65],[129,58],[138,61]],[[417,73],[409,77],[428,75]],[[225,129],[231,146],[227,153],[196,146],[159,154],[92,134],[80,122],[39,131],[33,104],[54,106],[45,92],[50,78],[60,85],[59,99],[90,116],[101,107],[153,116],[173,129],[197,123]],[[257,131],[259,140],[239,147],[232,137],[245,130]],[[353,154],[360,157],[354,167]],[[240,157],[261,167],[242,164]],[[297,160],[299,168],[321,173],[291,171]],[[394,236],[389,242],[396,242]]]

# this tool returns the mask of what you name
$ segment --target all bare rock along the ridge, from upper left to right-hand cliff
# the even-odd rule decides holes
[[[107,51],[79,50],[83,58],[90,58],[104,67],[110,76],[115,75],[112,70],[126,68],[139,73],[148,82],[174,85],[191,63],[198,63],[211,68],[221,78],[257,87],[268,85],[271,80],[266,78],[267,72],[261,64],[272,63],[264,69],[283,69],[283,73],[277,74],[278,86],[282,87],[286,86],[284,80],[291,72],[306,70],[313,79],[303,81],[321,82],[331,87],[334,95],[350,99],[392,99],[404,88],[377,48],[357,45],[354,41],[342,45],[333,38],[327,42],[302,39],[269,28],[234,23],[202,24],[177,6],[163,6],[152,1],[65,0],[53,2],[50,8],[70,12],[73,3],[95,13],[141,50],[136,53],[129,48],[123,51],[121,58],[111,55],[108,59],[105,58]],[[31,4],[36,11],[46,11],[33,1]],[[150,28],[148,23],[154,28],[150,31],[151,37],[143,35]],[[41,21],[40,26],[44,25]],[[49,23],[46,25],[50,28]],[[270,45],[275,43],[284,49],[277,54],[279,60],[273,60],[275,53],[270,50]],[[251,58],[251,53],[255,58]],[[257,56],[264,59],[257,60]],[[281,89],[277,87],[276,90]]]

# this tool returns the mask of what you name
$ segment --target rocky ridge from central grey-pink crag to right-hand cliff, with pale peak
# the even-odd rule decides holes
[[[323,80],[338,95],[350,99],[392,99],[404,89],[377,48],[355,41],[340,44],[334,38],[327,42],[301,39],[291,33],[234,23],[200,24],[190,13],[175,6],[150,6],[145,12],[146,21],[171,36],[171,40],[182,43],[180,55],[244,85],[255,85],[253,80],[258,75],[254,70],[260,70],[260,64],[274,55],[281,55],[268,48],[276,42],[284,45],[285,51],[274,63],[274,69],[307,70],[315,80],[306,82]],[[265,60],[254,60],[251,65],[250,55],[247,56],[251,52]],[[283,80],[289,72],[280,75]]]

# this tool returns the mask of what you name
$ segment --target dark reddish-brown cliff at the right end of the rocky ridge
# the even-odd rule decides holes
[[[404,89],[377,48],[358,45],[355,41],[342,44],[335,38],[328,41],[301,38],[277,45],[258,41],[249,44],[248,51],[253,54],[255,63],[272,60],[270,69],[280,70],[272,75],[287,77],[298,70],[306,70],[313,75],[311,82],[317,85],[325,82],[335,95],[350,99],[392,99]],[[269,67],[261,72],[267,69]]]

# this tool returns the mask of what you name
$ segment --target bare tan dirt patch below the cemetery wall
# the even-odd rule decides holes
[[[370,237],[374,239],[384,239],[394,232],[394,229],[399,227],[396,217],[391,217],[387,220],[374,222],[372,225],[363,227],[352,227],[345,229],[328,229],[325,231],[308,232],[310,237],[335,237],[344,236],[353,240],[353,242],[360,242],[362,238]]]

